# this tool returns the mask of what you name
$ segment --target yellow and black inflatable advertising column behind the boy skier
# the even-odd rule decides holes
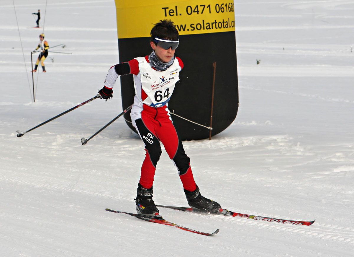
[[[184,68],[168,108],[181,139],[208,138],[208,127],[211,136],[226,129],[236,118],[239,103],[234,2],[115,0],[115,5],[120,62],[151,53],[155,23],[171,19],[176,25],[175,55]],[[124,110],[133,103],[135,90],[132,75],[120,79]],[[135,131],[130,113],[124,117]]]

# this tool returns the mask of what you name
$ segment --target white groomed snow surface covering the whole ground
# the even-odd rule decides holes
[[[122,111],[119,83],[112,100],[16,137],[95,96],[119,61],[113,0],[45,3],[0,1],[0,256],[353,256],[353,0],[235,1],[239,113],[211,141],[184,142],[195,180],[224,208],[316,222],[160,208],[177,224],[219,228],[211,237],[104,210],[135,212],[144,158],[122,118],[80,143]],[[72,55],[48,56],[33,103],[38,9],[45,39]],[[165,152],[154,189],[156,203],[187,206]]]

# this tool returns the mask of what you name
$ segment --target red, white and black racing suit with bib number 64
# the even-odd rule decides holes
[[[139,180],[144,188],[153,186],[156,164],[161,155],[161,141],[177,167],[183,188],[191,192],[196,189],[190,159],[184,152],[167,108],[182,68],[183,62],[178,57],[166,71],[152,68],[148,56],[137,57],[112,66],[104,82],[106,88],[112,89],[119,75],[133,74],[135,96],[130,116],[132,125],[145,144],[146,155]]]

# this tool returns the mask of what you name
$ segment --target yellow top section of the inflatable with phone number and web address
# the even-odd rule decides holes
[[[115,5],[118,38],[149,37],[162,19],[171,19],[180,35],[235,31],[233,0],[115,0]]]

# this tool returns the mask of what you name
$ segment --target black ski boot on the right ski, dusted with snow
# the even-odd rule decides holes
[[[221,206],[217,202],[202,196],[199,192],[198,186],[193,192],[187,191],[185,189],[183,190],[185,197],[187,197],[188,205],[193,209],[210,213],[218,213],[221,209]]]

